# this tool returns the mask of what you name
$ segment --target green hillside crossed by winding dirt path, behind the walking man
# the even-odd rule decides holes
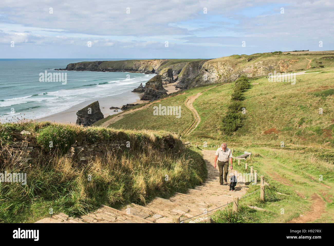
[[[183,136],[193,142],[259,143],[280,146],[316,145],[334,146],[334,100],[333,68],[317,69],[317,74],[296,76],[296,84],[290,82],[269,82],[266,78],[252,79],[251,88],[243,93],[241,101],[245,108],[240,127],[232,136],[220,130],[227,106],[231,101],[233,83],[218,87],[204,86],[184,91],[180,95],[162,99],[161,102],[124,116],[111,127],[125,129],[164,129],[182,134],[193,122],[191,112],[184,106],[187,97],[202,94],[193,106],[201,117],[198,127],[190,135]],[[259,83],[259,85],[253,85]],[[181,117],[155,116],[153,107],[181,106]],[[319,114],[319,108],[323,113]],[[114,116],[115,117],[115,116]]]

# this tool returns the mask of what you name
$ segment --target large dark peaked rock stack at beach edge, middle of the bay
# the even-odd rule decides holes
[[[167,95],[167,91],[162,86],[161,76],[156,75],[146,82],[145,92],[140,100],[154,101],[159,99],[162,95]]]

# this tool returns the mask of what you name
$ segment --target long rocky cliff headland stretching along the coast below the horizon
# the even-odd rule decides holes
[[[307,57],[310,57],[310,54],[305,52],[277,51],[215,59],[83,61],[68,64],[61,70],[158,74],[163,84],[177,81],[177,88],[189,89],[213,82],[234,81],[241,75],[256,77],[268,76],[274,71],[301,71],[308,66]],[[143,88],[138,90],[142,92]]]

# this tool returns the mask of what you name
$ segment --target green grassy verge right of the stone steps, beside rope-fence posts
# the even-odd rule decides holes
[[[323,200],[324,210],[316,214],[316,222],[333,222],[334,208],[332,199],[334,197],[333,171],[334,166],[322,158],[312,156],[312,151],[298,149],[276,149],[265,147],[245,146],[235,149],[233,155],[243,153],[243,151],[252,151],[258,154],[258,157],[252,157],[252,160],[241,160],[247,162],[257,170],[259,175],[265,175],[265,180],[270,184],[266,186],[266,201],[260,200],[260,191],[251,194],[239,200],[240,214],[232,215],[231,206],[227,209],[217,211],[211,215],[211,218],[220,223],[235,221],[239,223],[281,223],[290,221],[293,218],[305,214],[312,210],[313,197],[319,196]],[[303,160],[303,161],[301,161]],[[233,168],[239,172],[245,172],[244,164],[240,166],[234,163]],[[319,180],[321,175],[322,180]],[[258,183],[260,178],[258,178]],[[259,189],[249,183],[249,189],[246,193],[250,194]],[[249,206],[256,206],[264,210],[255,210]]]

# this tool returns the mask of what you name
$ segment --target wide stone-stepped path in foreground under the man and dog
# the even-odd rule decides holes
[[[237,182],[234,191],[229,191],[229,186],[221,186],[218,168],[213,168],[215,151],[202,150],[202,153],[208,171],[207,179],[200,186],[188,189],[185,194],[175,193],[169,199],[155,197],[146,206],[131,203],[121,210],[102,205],[95,212],[77,218],[60,213],[36,223],[170,223],[175,215],[185,222],[207,217],[207,214],[203,214],[187,220],[225,205],[233,201],[233,197],[242,197],[248,187],[244,182]],[[232,170],[232,173],[237,175],[236,170]]]

